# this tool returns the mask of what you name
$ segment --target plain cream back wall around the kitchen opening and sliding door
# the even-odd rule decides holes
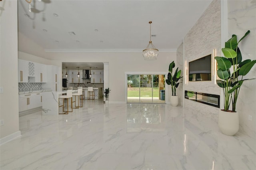
[[[49,53],[61,62],[108,62],[109,101],[125,102],[125,72],[168,72],[171,61],[176,61],[176,52],[160,52],[156,61],[145,61],[142,52],[94,52],[94,53]],[[168,87],[169,88],[169,87]]]

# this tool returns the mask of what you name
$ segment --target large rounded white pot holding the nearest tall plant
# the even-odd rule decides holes
[[[238,112],[225,112],[220,110],[218,126],[223,134],[233,136],[239,129]]]

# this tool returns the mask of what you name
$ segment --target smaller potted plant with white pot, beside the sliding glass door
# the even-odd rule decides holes
[[[166,83],[168,85],[171,85],[172,87],[172,96],[171,96],[171,105],[172,106],[177,106],[178,105],[178,96],[176,96],[176,88],[178,88],[179,84],[178,81],[182,78],[180,77],[181,75],[181,70],[178,70],[179,67],[175,70],[173,73],[172,69],[175,67],[174,61],[170,63],[169,65],[169,73],[167,75]]]

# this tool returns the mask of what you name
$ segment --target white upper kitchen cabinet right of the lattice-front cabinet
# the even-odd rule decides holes
[[[46,65],[40,63],[35,64],[35,83],[47,82],[47,68]]]

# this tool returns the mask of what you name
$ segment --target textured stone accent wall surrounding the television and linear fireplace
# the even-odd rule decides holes
[[[216,56],[221,55],[220,19],[220,0],[213,0],[184,38],[184,60],[187,61],[187,66],[189,61],[212,54],[213,49],[216,49]],[[184,84],[184,90],[215,95],[220,95],[221,91],[220,87],[214,84],[213,74],[211,81],[188,81],[187,75],[187,83]],[[198,114],[212,118],[216,123],[218,122],[219,109],[216,107],[188,99],[184,99],[184,106],[197,111]]]

